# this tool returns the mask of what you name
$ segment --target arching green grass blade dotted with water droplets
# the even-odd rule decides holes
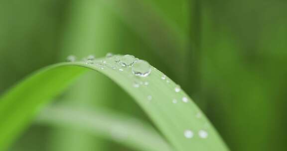
[[[140,78],[132,74],[131,68],[95,66],[106,61],[103,60],[95,60],[92,65],[75,62],[49,66],[8,91],[0,98],[0,150],[23,130],[39,107],[88,69],[108,76],[124,88],[176,151],[228,150],[200,109],[171,79],[154,68],[150,75]],[[148,84],[135,87],[135,82]]]

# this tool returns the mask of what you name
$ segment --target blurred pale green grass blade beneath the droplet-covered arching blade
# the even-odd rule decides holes
[[[41,111],[36,123],[78,129],[111,139],[137,151],[172,151],[152,127],[112,111],[53,106]]]

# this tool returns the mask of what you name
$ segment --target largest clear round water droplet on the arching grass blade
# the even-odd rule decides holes
[[[146,61],[139,60],[134,64],[132,72],[134,75],[146,77],[147,75],[150,74],[151,68]]]

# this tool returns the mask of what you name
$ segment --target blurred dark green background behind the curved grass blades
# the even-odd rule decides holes
[[[232,151],[286,151],[287,0],[0,0],[0,94],[41,67],[132,54],[179,83]],[[113,95],[111,95],[113,94]],[[143,111],[102,75],[56,103]],[[131,151],[32,125],[9,151]]]

